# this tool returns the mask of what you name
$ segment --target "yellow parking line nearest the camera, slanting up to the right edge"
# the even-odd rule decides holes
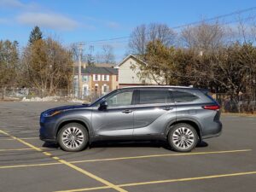
[[[218,178],[218,177],[237,177],[237,176],[253,175],[253,174],[256,174],[256,172],[236,172],[236,173],[228,173],[228,174],[203,176],[203,177],[185,177],[185,178],[166,179],[166,180],[141,182],[141,183],[125,183],[125,184],[118,184],[117,186],[119,186],[119,187],[132,187],[132,186],[147,185],[147,184],[188,182],[188,181],[211,179],[211,178]],[[96,188],[68,189],[68,190],[60,190],[60,191],[55,191],[55,192],[78,192],[78,191],[98,190],[98,189],[109,189],[109,187],[108,186],[103,186],[103,187],[96,187]]]

